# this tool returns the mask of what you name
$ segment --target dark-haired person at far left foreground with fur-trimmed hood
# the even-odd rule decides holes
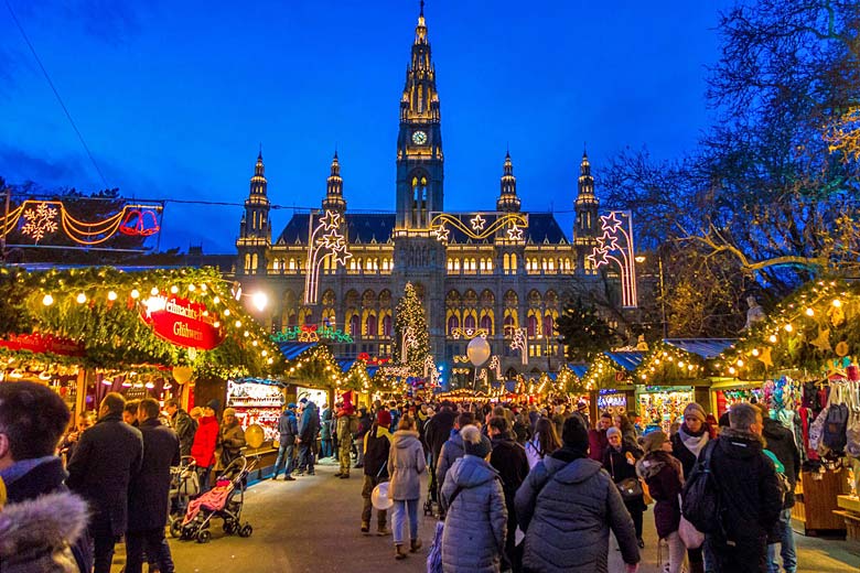
[[[93,570],[86,504],[68,494],[63,483],[67,476],[63,461],[54,455],[69,418],[68,407],[47,386],[25,381],[0,383],[0,498],[7,498],[8,511],[18,504],[40,498],[35,506],[21,509],[21,513],[6,516],[7,523],[15,527],[18,536],[0,525],[0,571],[7,571],[7,567],[21,573],[40,571],[28,565],[39,563],[45,556],[53,558],[57,551],[64,551],[66,542],[77,565],[71,571],[90,573]],[[56,502],[51,500],[54,495],[60,496],[55,498]],[[67,507],[63,509],[61,502]],[[41,511],[42,508],[49,508],[50,513]],[[47,521],[36,528],[18,527],[23,519],[21,515],[33,517],[34,510]],[[56,518],[61,521],[53,521]],[[2,519],[0,513],[0,521]],[[30,544],[31,541],[44,549],[40,555],[28,556],[20,551],[22,543]],[[13,569],[15,564],[21,567]]]

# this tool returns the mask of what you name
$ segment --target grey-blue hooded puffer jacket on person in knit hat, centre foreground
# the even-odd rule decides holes
[[[442,531],[442,571],[497,572],[505,549],[507,509],[498,472],[483,458],[466,455],[454,462],[442,486],[442,502],[460,489],[448,508]]]

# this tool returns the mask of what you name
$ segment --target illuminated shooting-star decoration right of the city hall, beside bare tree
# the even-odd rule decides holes
[[[636,263],[633,259],[633,214],[628,210],[612,210],[601,215],[601,230],[598,246],[589,260],[599,269],[610,261],[621,270],[621,304],[625,309],[638,306],[636,295]]]

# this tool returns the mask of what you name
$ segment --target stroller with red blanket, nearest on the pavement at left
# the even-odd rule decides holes
[[[245,456],[230,462],[215,479],[215,487],[191,501],[185,517],[170,525],[170,533],[182,540],[196,539],[197,543],[206,543],[212,539],[212,518],[217,517],[224,520],[223,529],[228,536],[250,537],[254,528],[247,521],[241,522],[241,508],[246,480],[256,464],[256,460],[248,462]]]

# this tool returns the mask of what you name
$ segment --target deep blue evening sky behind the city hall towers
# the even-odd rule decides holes
[[[262,143],[272,203],[316,207],[336,144],[348,207],[394,209],[418,0],[9,2],[125,195],[240,203]],[[429,0],[445,208],[495,207],[506,145],[523,208],[557,212],[583,142],[595,166],[625,147],[692,148],[727,6]],[[0,33],[0,175],[101,188],[6,4]],[[161,246],[232,252],[240,215],[171,204]],[[272,213],[276,237],[290,215]]]

